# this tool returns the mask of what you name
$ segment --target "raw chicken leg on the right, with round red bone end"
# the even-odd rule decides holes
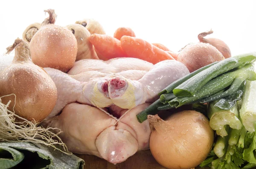
[[[140,80],[113,77],[108,85],[109,97],[116,106],[132,109],[143,103],[152,103],[166,86],[189,74],[177,60],[164,60],[154,65]]]

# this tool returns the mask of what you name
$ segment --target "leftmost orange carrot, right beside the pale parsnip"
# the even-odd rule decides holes
[[[109,60],[115,57],[126,57],[125,52],[120,46],[120,40],[107,34],[92,34],[89,37],[95,51],[100,55],[101,60]]]

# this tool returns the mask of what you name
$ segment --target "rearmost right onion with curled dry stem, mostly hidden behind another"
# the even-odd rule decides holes
[[[219,52],[221,52],[221,54],[225,57],[225,58],[229,58],[231,57],[231,52],[230,52],[230,48],[227,46],[227,44],[217,38],[212,38],[212,37],[208,37],[208,38],[204,38],[205,36],[207,36],[208,34],[212,34],[213,31],[210,30],[208,32],[203,32],[201,34],[198,34],[198,40],[200,42],[203,43],[209,43],[212,46],[214,46],[215,48],[218,49]]]

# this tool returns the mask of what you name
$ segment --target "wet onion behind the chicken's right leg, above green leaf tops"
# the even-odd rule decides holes
[[[225,57],[214,46],[208,43],[191,43],[178,54],[177,61],[183,63],[192,73],[213,62],[224,60]]]

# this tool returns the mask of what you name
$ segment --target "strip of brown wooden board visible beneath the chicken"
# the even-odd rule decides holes
[[[77,154],[76,154],[77,155]],[[150,150],[137,152],[123,163],[116,165],[94,155],[77,155],[84,159],[84,169],[166,169],[152,156]],[[200,167],[196,169],[201,169]],[[208,169],[208,168],[204,168]]]

